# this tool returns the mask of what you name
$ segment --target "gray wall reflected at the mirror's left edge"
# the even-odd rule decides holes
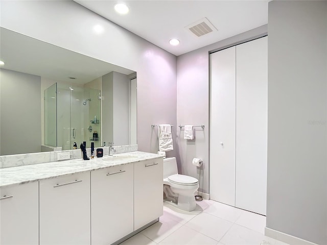
[[[0,155],[40,152],[41,78],[1,69],[0,79]],[[33,110],[26,110],[26,104]]]

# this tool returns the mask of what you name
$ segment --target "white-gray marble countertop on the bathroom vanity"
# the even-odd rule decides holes
[[[126,157],[124,159],[117,156],[135,156],[135,158]],[[93,171],[101,168],[161,157],[162,156],[157,154],[147,152],[128,152],[114,154],[113,157],[95,157],[86,161],[82,159],[74,159],[0,168],[0,187],[25,184],[44,179],[56,178],[64,175],[72,175],[84,171]]]

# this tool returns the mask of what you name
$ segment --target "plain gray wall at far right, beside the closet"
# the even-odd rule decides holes
[[[272,1],[267,227],[327,243],[326,1]]]

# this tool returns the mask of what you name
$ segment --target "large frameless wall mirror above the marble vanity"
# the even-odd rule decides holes
[[[136,144],[136,72],[0,29],[0,155]]]

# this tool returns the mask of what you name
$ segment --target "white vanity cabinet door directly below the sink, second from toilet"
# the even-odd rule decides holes
[[[133,163],[91,171],[91,244],[111,244],[134,231]]]

